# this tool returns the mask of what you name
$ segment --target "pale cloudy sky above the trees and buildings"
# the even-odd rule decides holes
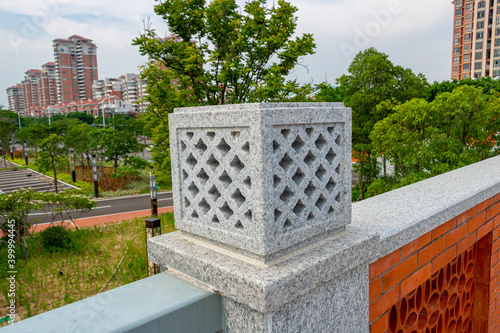
[[[298,8],[296,34],[312,33],[316,42],[315,54],[301,59],[291,78],[335,84],[355,54],[369,47],[429,81],[450,78],[449,0],[288,1]],[[100,79],[138,73],[145,58],[131,42],[143,31],[144,22],[151,22],[159,35],[168,33],[154,5],[154,0],[0,1],[0,105],[8,107],[6,89],[20,83],[27,70],[54,61],[56,38],[92,39],[98,47]]]

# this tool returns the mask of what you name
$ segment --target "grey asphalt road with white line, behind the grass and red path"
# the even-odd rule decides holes
[[[78,218],[105,216],[118,213],[135,212],[151,208],[151,197],[149,194],[141,194],[128,197],[118,197],[110,199],[97,199],[97,207],[93,208],[85,215]],[[158,193],[158,208],[173,206],[172,192]],[[28,220],[39,219],[37,223],[50,222],[44,213],[35,212],[28,215]]]

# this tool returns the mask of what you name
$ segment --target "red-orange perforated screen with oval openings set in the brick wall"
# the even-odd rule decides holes
[[[472,332],[477,243],[391,309],[390,332]]]

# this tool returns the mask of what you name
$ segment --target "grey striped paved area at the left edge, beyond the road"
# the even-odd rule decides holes
[[[57,186],[60,190],[77,188],[59,180]],[[0,170],[0,194],[28,187],[37,192],[54,192],[54,178],[31,169]]]

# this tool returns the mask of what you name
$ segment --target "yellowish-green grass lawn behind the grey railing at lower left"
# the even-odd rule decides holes
[[[162,234],[175,230],[172,213],[160,218]],[[144,218],[69,232],[69,249],[48,254],[33,242],[30,257],[17,259],[16,321],[147,277]],[[0,308],[6,311],[7,246],[0,244]]]

